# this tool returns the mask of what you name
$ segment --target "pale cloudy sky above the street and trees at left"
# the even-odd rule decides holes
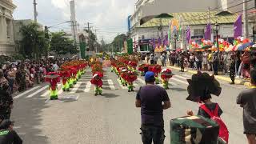
[[[37,0],[38,22],[42,25],[53,26],[70,20],[70,0]],[[92,23],[93,29],[98,30],[98,38],[106,42],[117,34],[127,30],[127,17],[134,12],[137,0],[75,0],[76,17],[80,29],[87,22]],[[17,9],[14,19],[34,19],[33,0],[14,0]],[[55,27],[53,30],[70,30],[69,24]]]

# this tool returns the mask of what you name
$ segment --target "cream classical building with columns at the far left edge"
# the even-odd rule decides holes
[[[0,1],[0,55],[15,52],[13,12],[16,6],[12,0]]]

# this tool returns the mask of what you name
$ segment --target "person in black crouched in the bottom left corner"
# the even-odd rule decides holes
[[[22,138],[13,130],[14,122],[9,119],[0,124],[0,144],[22,144]]]

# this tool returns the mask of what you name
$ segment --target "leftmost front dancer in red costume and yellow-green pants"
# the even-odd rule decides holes
[[[50,100],[58,99],[58,82],[60,82],[60,78],[57,72],[49,72],[46,75],[46,82],[50,82],[49,90],[50,90]]]

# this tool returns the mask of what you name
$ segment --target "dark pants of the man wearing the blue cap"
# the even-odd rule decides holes
[[[143,144],[163,144],[165,140],[165,130],[163,126],[150,126],[143,125],[141,127],[142,130],[142,142]]]

